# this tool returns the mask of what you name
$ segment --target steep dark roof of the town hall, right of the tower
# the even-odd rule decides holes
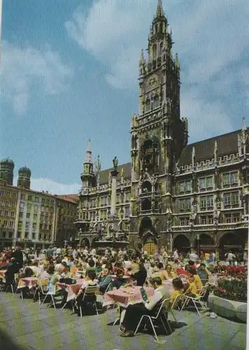
[[[218,157],[229,155],[231,153],[237,153],[238,150],[238,134],[241,130],[235,132],[229,132],[229,134],[212,137],[203,141],[195,142],[194,144],[187,145],[178,162],[178,167],[190,164],[192,162],[192,148],[195,148],[195,160],[200,162],[201,160],[214,158],[215,141],[218,146]]]

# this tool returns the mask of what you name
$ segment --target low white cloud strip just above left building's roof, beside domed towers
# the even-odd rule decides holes
[[[13,180],[14,185],[17,184],[17,177]],[[52,195],[78,195],[80,190],[79,183],[58,183],[51,179],[31,178],[30,188],[38,192],[48,191]]]

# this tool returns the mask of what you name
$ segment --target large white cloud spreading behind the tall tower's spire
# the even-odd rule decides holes
[[[237,0],[162,2],[176,43],[173,49],[183,62],[181,111],[190,120],[191,141],[210,137],[214,125],[217,134],[233,130],[233,116],[227,116],[224,110],[231,102],[239,64],[223,80],[223,86],[219,74],[239,61],[243,50],[249,48],[248,0],[239,1],[239,6]],[[97,0],[87,13],[78,8],[65,27],[81,48],[107,67],[109,84],[136,88],[140,50],[146,48],[156,3],[156,0]],[[248,89],[243,78],[241,83]],[[208,93],[215,93],[215,89],[220,92],[219,97],[229,101],[208,102]]]

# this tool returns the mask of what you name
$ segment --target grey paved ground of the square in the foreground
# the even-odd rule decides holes
[[[69,309],[44,306],[39,311],[37,303],[11,293],[0,293],[0,305],[1,350],[246,349],[245,324],[198,316],[192,311],[175,311],[178,324],[172,321],[172,334],[159,335],[158,344],[146,332],[132,338],[120,337],[118,325],[112,325],[117,317],[115,309],[80,318]]]

